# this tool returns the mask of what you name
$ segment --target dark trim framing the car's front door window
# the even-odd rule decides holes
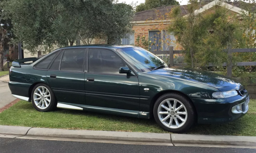
[[[125,48],[129,48],[129,47],[125,47]],[[87,67],[88,67],[87,73],[88,74],[115,75],[115,76],[125,76],[125,77],[127,77],[127,75],[122,75],[122,74],[107,74],[107,73],[92,73],[92,72],[90,72],[90,69],[89,69],[89,53],[90,53],[90,49],[109,50],[109,51],[113,52],[114,54],[116,54],[125,63],[126,66],[128,66],[130,68],[131,71],[133,71],[133,73],[135,74],[136,78],[138,78],[137,73],[133,70],[133,68],[131,68],[131,66],[129,66],[129,64],[127,64],[127,62],[125,62],[125,60],[121,56],[119,56],[117,54],[117,51],[113,51],[113,50],[106,49],[106,48],[88,48],[88,56],[87,56],[87,62],[88,62],[88,64],[87,64]],[[121,48],[118,48],[118,49],[121,49]],[[129,76],[129,77],[131,77],[131,76]]]

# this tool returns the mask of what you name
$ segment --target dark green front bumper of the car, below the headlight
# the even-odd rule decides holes
[[[192,99],[198,123],[227,123],[244,116],[249,109],[246,98],[249,94],[221,99]]]

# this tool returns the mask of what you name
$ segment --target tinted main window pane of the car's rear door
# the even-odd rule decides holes
[[[65,50],[60,70],[83,72],[84,52],[85,49]]]

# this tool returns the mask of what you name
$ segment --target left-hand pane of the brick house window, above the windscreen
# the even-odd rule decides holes
[[[162,36],[159,30],[148,31],[148,38],[154,45],[149,45],[151,51],[159,51],[162,46]]]

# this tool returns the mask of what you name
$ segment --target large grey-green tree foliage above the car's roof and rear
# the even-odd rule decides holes
[[[32,53],[44,45],[51,51],[77,39],[106,38],[116,43],[131,32],[133,6],[114,0],[10,0],[5,8],[16,41]]]

